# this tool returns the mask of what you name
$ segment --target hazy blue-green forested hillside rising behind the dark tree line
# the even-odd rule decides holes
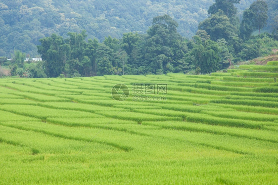
[[[253,1],[241,0],[236,5],[239,15]],[[275,0],[268,1],[275,5]],[[213,0],[0,0],[0,56],[11,57],[14,49],[35,56],[39,40],[53,33],[66,37],[68,32],[86,30],[88,39],[101,42],[108,36],[145,33],[152,18],[164,14],[190,38],[212,4]],[[270,9],[278,9],[274,5]]]

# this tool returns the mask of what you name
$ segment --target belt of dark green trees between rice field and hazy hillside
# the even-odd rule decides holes
[[[80,77],[123,74],[211,73],[230,65],[270,54],[278,48],[278,25],[273,33],[263,33],[269,8],[265,1],[254,1],[238,18],[240,0],[216,0],[209,16],[198,24],[192,39],[179,33],[179,23],[168,14],[152,18],[146,33],[127,32],[122,38],[91,39],[86,30],[50,34],[39,40],[43,61],[24,61],[26,54],[14,50],[12,60],[0,59],[10,66],[12,76]],[[273,8],[273,7],[272,7]],[[259,35],[252,35],[258,32]]]

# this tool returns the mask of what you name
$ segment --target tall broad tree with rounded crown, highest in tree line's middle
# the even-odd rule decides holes
[[[145,46],[145,60],[150,63],[146,66],[148,72],[173,72],[171,70],[185,61],[187,46],[177,27],[178,23],[167,14],[153,18]]]

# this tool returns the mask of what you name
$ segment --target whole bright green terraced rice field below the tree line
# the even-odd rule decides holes
[[[0,184],[275,185],[277,78],[0,79]]]

